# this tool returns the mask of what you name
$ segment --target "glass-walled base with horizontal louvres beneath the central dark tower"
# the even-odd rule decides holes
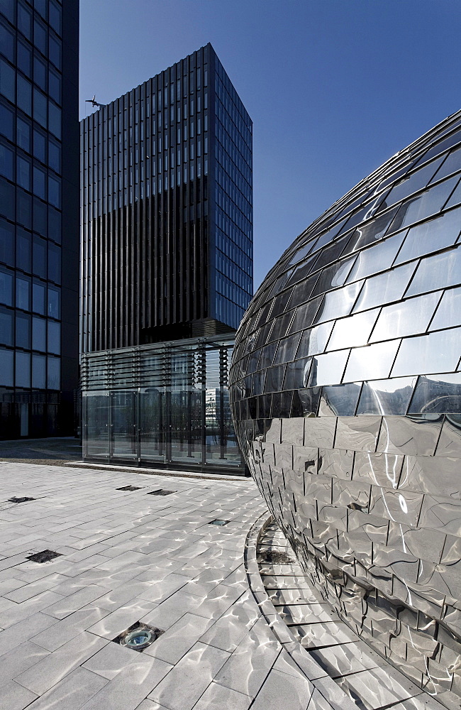
[[[82,356],[86,459],[244,474],[230,417],[233,337]]]

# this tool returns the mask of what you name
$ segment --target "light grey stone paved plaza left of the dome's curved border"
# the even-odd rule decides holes
[[[0,474],[1,710],[306,710],[315,691],[248,586],[245,538],[267,515],[250,479]],[[42,550],[60,556],[26,559]],[[142,653],[113,643],[138,621],[165,633]]]

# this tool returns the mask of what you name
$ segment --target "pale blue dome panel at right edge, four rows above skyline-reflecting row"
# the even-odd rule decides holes
[[[461,207],[411,227],[397,254],[396,264],[452,246],[461,231]]]

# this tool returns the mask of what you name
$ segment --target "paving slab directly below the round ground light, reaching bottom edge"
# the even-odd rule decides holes
[[[134,710],[172,666],[159,658],[133,651],[133,662],[109,681],[82,710]]]

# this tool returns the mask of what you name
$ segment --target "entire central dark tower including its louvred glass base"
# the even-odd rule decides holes
[[[84,457],[233,470],[252,123],[211,45],[81,122]]]

